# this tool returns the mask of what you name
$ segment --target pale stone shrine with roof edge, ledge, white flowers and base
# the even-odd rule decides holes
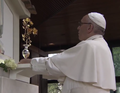
[[[38,93],[38,86],[28,83],[30,77],[20,75],[20,72],[30,70],[31,66],[17,64],[19,62],[19,20],[30,17],[30,13],[21,0],[12,0],[12,2],[0,0],[0,18],[3,17],[1,2],[4,6],[4,20],[0,19],[0,26],[5,29],[0,32],[2,35],[0,40],[4,45],[3,47],[0,44],[0,93]],[[17,67],[14,68],[13,65]]]

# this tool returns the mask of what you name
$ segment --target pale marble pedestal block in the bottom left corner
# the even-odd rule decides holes
[[[0,76],[0,93],[38,93],[38,86]]]

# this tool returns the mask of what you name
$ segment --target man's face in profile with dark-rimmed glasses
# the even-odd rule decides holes
[[[90,23],[88,22],[87,18],[88,16],[85,15],[81,19],[81,24],[77,27],[78,37],[79,37],[79,40],[81,41],[87,39],[88,27],[90,26]]]

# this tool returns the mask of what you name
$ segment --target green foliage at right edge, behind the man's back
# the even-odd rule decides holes
[[[120,76],[120,47],[114,47],[112,50],[113,50],[115,75]]]

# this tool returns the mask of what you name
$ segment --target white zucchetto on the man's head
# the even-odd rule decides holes
[[[88,13],[88,16],[98,26],[106,29],[106,20],[102,14],[97,12],[91,12],[91,13]]]

